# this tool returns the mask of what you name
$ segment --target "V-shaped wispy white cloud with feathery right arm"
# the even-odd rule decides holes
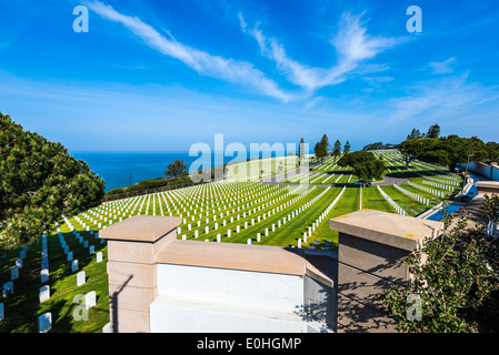
[[[309,94],[320,88],[336,85],[360,73],[379,71],[380,65],[365,65],[363,63],[377,54],[398,44],[400,40],[393,38],[372,37],[367,34],[361,14],[353,16],[345,12],[341,17],[337,34],[330,40],[338,53],[338,61],[330,68],[315,68],[291,59],[282,44],[275,38],[267,38],[257,22],[248,30],[242,13],[239,13],[241,30],[251,34],[260,47],[261,54],[273,60],[278,70],[287,79],[305,89]],[[386,70],[386,65],[383,65]]]

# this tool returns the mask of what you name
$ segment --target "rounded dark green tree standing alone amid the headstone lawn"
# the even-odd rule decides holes
[[[353,174],[362,180],[379,180],[385,171],[385,163],[371,152],[357,151],[345,154],[338,161],[340,166],[352,166]]]

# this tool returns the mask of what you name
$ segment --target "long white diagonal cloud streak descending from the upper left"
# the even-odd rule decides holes
[[[285,102],[291,98],[273,80],[267,78],[262,71],[256,69],[251,63],[213,55],[191,48],[176,41],[171,33],[168,33],[168,39],[139,18],[122,14],[111,6],[100,1],[87,1],[86,4],[102,18],[124,26],[150,48],[182,61],[202,75],[250,85],[260,93]]]

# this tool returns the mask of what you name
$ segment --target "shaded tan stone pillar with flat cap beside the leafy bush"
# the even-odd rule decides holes
[[[361,210],[330,220],[329,227],[339,232],[338,332],[397,332],[373,296],[392,283],[409,285],[405,258],[442,223]]]

